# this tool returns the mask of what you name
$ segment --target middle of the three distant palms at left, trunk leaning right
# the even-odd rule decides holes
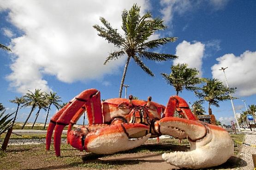
[[[35,108],[38,106],[38,103],[40,100],[42,100],[42,97],[44,97],[44,92],[41,92],[41,89],[35,89],[35,92],[29,91],[25,96],[26,102],[22,107],[31,107],[30,113],[28,115],[28,118],[25,120],[24,125],[21,129],[24,128],[27,121],[30,119],[31,113],[35,110]]]

